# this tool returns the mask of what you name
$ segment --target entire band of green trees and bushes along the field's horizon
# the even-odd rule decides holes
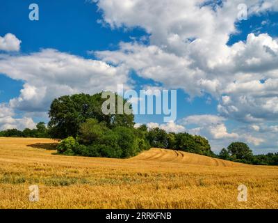
[[[120,96],[115,94],[116,110]],[[199,135],[166,132],[146,125],[134,128],[133,114],[103,114],[105,98],[95,95],[65,95],[55,99],[49,109],[50,121],[38,123],[36,128],[23,131],[12,129],[0,132],[0,137],[36,137],[62,139],[57,146],[63,155],[126,158],[149,148],[169,148],[188,153],[221,158],[247,164],[278,165],[278,153],[253,155],[243,142],[234,142],[223,148],[219,155],[211,151],[208,140]],[[124,98],[123,105],[132,109]]]

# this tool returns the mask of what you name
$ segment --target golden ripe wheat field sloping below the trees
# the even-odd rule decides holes
[[[278,167],[158,148],[127,160],[68,157],[55,144],[0,138],[0,208],[278,208]]]

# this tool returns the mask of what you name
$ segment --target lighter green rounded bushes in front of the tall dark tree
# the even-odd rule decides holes
[[[58,144],[58,153],[90,157],[126,158],[149,149],[145,134],[134,128],[118,126],[107,128],[89,118],[81,124],[79,135],[68,137]]]

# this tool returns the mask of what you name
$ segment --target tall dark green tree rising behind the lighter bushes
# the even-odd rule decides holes
[[[119,99],[122,100],[123,105],[128,103],[122,97],[119,97],[119,95],[115,95],[116,111]],[[49,133],[51,137],[57,139],[76,137],[81,123],[85,123],[88,118],[95,118],[99,123],[104,122],[108,128],[117,126],[133,127],[133,114],[104,114],[101,106],[106,100],[107,98],[101,98],[101,93],[95,95],[84,93],[65,95],[55,99],[49,110]]]

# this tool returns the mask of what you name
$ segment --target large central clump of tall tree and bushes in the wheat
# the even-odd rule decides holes
[[[115,95],[121,105],[131,104]],[[119,100],[118,100],[119,99]],[[65,95],[55,99],[49,111],[49,133],[64,139],[58,153],[92,157],[132,157],[150,148],[145,132],[133,128],[133,114],[104,114],[105,101],[95,95]]]

